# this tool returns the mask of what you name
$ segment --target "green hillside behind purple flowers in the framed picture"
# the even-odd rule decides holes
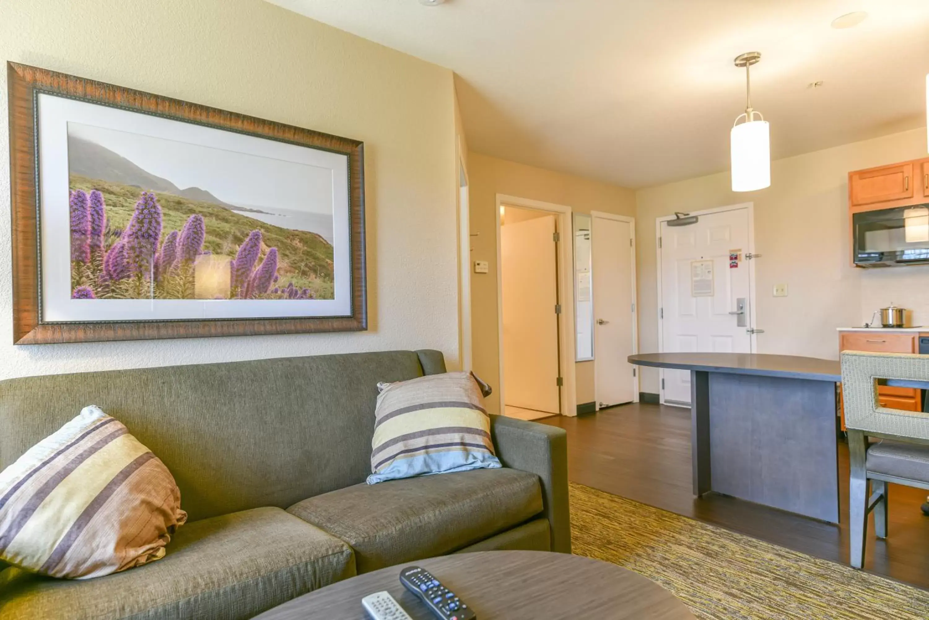
[[[71,190],[89,193],[98,190],[106,202],[106,244],[116,240],[132,218],[142,193],[137,185],[87,178],[72,174]],[[186,191],[187,192],[187,191]],[[307,288],[316,299],[334,298],[333,246],[319,234],[292,231],[242,215],[227,205],[179,196],[167,191],[153,192],[163,213],[162,240],[171,231],[180,231],[192,215],[200,215],[205,223],[203,250],[218,257],[234,258],[238,248],[251,231],[261,231],[264,256],[268,248],[278,250],[278,284],[290,283],[298,289]],[[210,196],[208,192],[203,194]],[[212,197],[212,196],[210,196]]]

